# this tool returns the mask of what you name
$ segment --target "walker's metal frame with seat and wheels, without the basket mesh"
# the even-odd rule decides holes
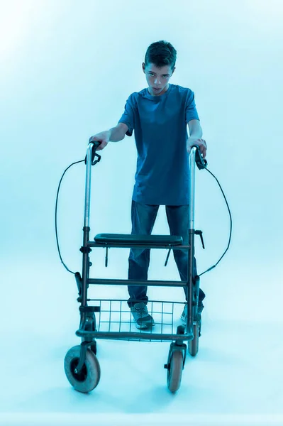
[[[80,324],[76,334],[82,338],[80,346],[77,348],[76,356],[72,353],[65,358],[65,373],[68,380],[76,388],[77,391],[89,392],[97,386],[100,378],[100,368],[97,359],[95,363],[88,364],[87,357],[96,355],[96,339],[127,339],[127,340],[143,340],[143,341],[167,341],[171,342],[168,354],[167,364],[167,386],[170,391],[175,392],[180,386],[182,369],[186,359],[187,345],[189,342],[189,353],[195,356],[199,347],[200,322],[197,314],[197,306],[199,300],[199,277],[193,276],[194,261],[194,235],[201,237],[204,247],[201,231],[194,229],[194,197],[195,197],[195,165],[199,169],[205,168],[207,163],[201,156],[198,146],[193,146],[189,153],[189,244],[183,244],[181,236],[172,235],[133,235],[133,234],[98,234],[94,237],[94,241],[90,241],[89,233],[89,213],[90,213],[90,197],[91,197],[91,165],[95,165],[101,159],[96,153],[98,142],[91,142],[87,147],[87,156],[85,163],[86,184],[85,184],[85,200],[84,200],[84,227],[83,227],[83,245],[80,249],[82,252],[82,276],[79,272],[75,273],[77,288],[79,291],[78,302],[80,302]],[[98,158],[94,160],[94,158]],[[136,249],[169,249],[167,259],[171,250],[187,250],[188,257],[188,281],[170,281],[170,280],[121,280],[121,279],[94,279],[89,278],[89,268],[91,262],[89,253],[91,249],[106,249],[106,266],[108,263],[109,248],[136,248]],[[167,261],[166,261],[167,263]],[[165,263],[165,265],[166,265]],[[89,306],[88,301],[94,299],[87,298],[87,290],[89,285],[147,285],[147,286],[170,286],[170,287],[187,287],[187,327],[179,325],[177,332],[171,333],[149,333],[143,332],[113,332],[99,331],[96,329],[96,312],[100,312],[101,306]],[[121,300],[122,302],[122,300]],[[163,303],[163,302],[161,302]],[[177,302],[172,302],[177,303]],[[100,303],[101,305],[101,303]],[[74,348],[73,348],[74,349]],[[79,352],[78,352],[79,351]],[[177,352],[177,356],[174,355]],[[90,355],[91,353],[92,355]],[[182,357],[181,357],[182,354]],[[90,359],[90,358],[89,358]],[[92,359],[93,361],[93,359]],[[92,362],[91,361],[91,362]],[[182,365],[181,365],[182,364]],[[96,369],[95,383],[88,383],[87,368]],[[181,368],[182,366],[182,368]],[[82,371],[84,371],[82,375]],[[97,383],[96,383],[97,382]],[[94,386],[95,385],[95,386]]]

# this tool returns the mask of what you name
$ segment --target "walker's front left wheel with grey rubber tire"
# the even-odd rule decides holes
[[[73,346],[67,351],[64,361],[65,374],[76,391],[88,393],[93,391],[99,384],[101,371],[98,359],[90,349],[87,349],[86,360],[82,367],[82,372],[77,376],[74,373],[74,368],[79,364],[80,353],[80,345]]]

